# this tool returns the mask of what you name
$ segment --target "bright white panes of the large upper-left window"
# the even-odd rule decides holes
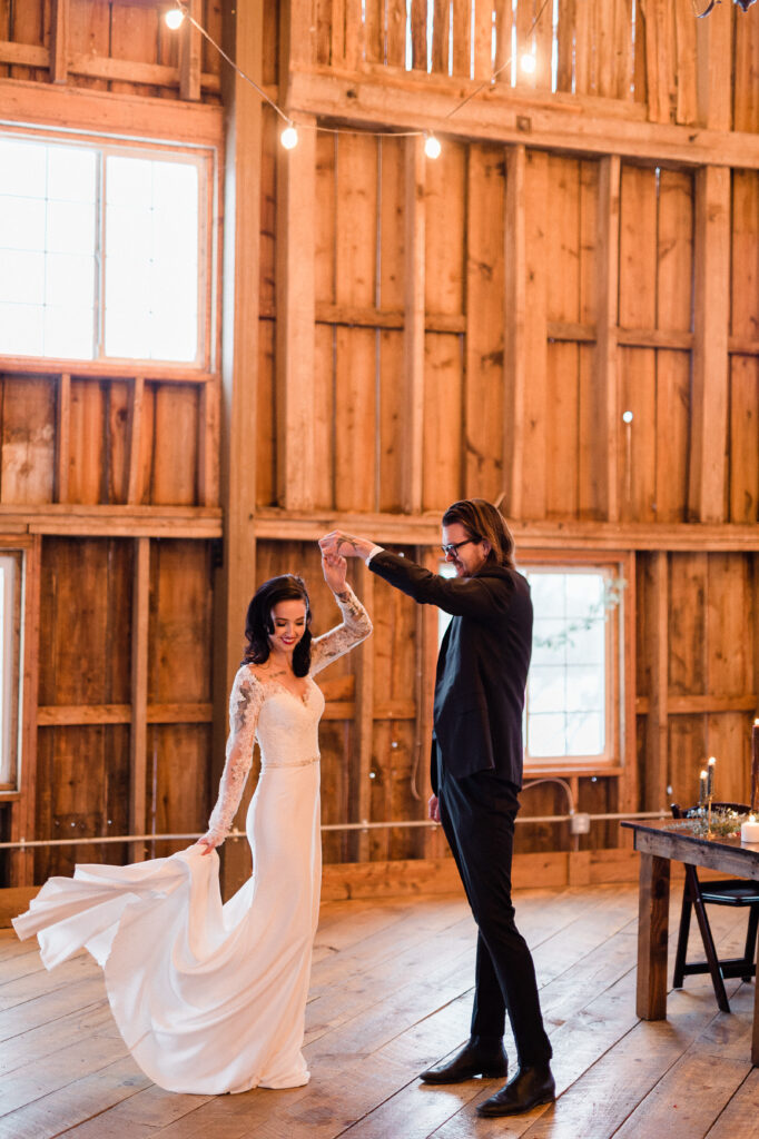
[[[0,354],[204,363],[207,159],[0,134]]]

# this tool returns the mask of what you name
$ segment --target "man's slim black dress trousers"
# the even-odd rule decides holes
[[[493,771],[455,779],[439,763],[440,821],[479,931],[472,1035],[500,1040],[508,1013],[519,1062],[532,1065],[547,1063],[552,1048],[532,956],[514,924],[516,794],[517,788]]]

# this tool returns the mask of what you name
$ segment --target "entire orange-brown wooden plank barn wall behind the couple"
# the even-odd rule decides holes
[[[232,7],[191,10],[229,46]],[[745,797],[759,704],[759,158],[745,142],[759,131],[759,6],[723,3],[697,25],[691,0],[561,0],[534,26],[532,0],[435,3],[431,21],[416,0],[253,9],[260,31],[237,58],[254,58],[305,126],[286,156],[263,106],[234,142],[248,164],[238,206],[260,218],[255,241],[228,246],[238,280],[254,281],[229,327],[258,326],[237,476],[253,533],[244,588],[302,573],[321,632],[337,611],[319,527],[350,514],[435,568],[441,510],[503,494],[522,549],[606,551],[629,574],[618,770],[569,772],[578,810],[687,802],[709,754],[720,795]],[[0,97],[35,84],[49,107],[52,81],[107,99],[114,123],[140,101],[172,124],[156,100],[166,116],[239,103],[210,44],[158,17],[138,0],[0,5]],[[532,76],[504,66],[514,46],[515,58],[534,50]],[[496,71],[487,97],[446,118]],[[440,132],[436,162],[418,138],[373,133],[417,112]],[[219,769],[214,645],[242,650],[242,597],[219,615],[219,377],[2,361],[0,376],[0,511],[41,535],[30,826],[198,830]],[[323,821],[418,822],[436,617],[351,573],[375,633],[323,678]],[[254,786],[255,765],[245,802]],[[565,809],[556,784],[524,794],[525,816]],[[28,833],[0,810],[5,835]],[[51,847],[5,872],[39,880],[181,844]],[[521,851],[619,844],[614,821],[580,838],[566,823],[517,828]],[[421,827],[325,831],[328,862],[443,851]]]

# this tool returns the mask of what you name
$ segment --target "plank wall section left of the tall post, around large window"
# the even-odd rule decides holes
[[[190,10],[220,38],[217,5],[193,2]],[[163,133],[205,147],[211,203],[220,188],[213,148],[221,132],[209,129],[219,74],[218,54],[205,42],[201,51],[188,26],[170,33],[155,5],[0,6],[0,101],[13,91],[23,121],[41,126],[121,139]],[[180,96],[185,128],[177,133],[180,120],[156,100],[171,116]],[[215,294],[213,279],[209,287]],[[213,305],[207,312],[213,328]],[[6,544],[14,532],[35,535],[31,547],[23,539],[35,603],[26,629],[33,682],[24,694],[22,797],[0,802],[5,837],[183,831],[205,822],[221,535],[213,333],[206,346],[195,371],[0,361],[0,528]],[[0,880],[39,882],[75,861],[146,851],[166,852],[116,843],[40,849],[33,859],[3,854]]]

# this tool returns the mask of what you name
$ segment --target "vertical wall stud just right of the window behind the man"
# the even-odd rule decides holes
[[[658,811],[667,803],[668,694],[669,694],[669,563],[666,550],[652,554],[652,581],[647,614],[651,621],[651,693],[646,732],[645,810]]]

